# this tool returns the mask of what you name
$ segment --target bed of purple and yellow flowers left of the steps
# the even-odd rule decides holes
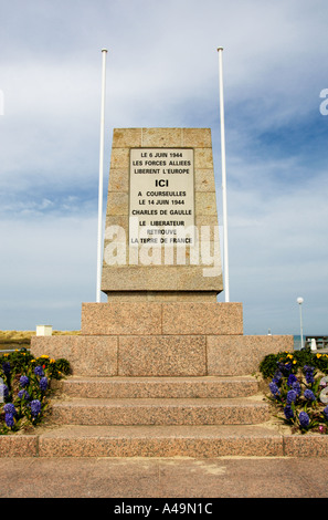
[[[25,349],[3,354],[0,362],[0,435],[36,426],[44,418],[51,396],[51,381],[70,373],[66,360],[47,355],[34,358]]]

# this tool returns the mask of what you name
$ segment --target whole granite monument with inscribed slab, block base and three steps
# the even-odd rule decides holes
[[[106,303],[80,335],[35,336],[70,361],[39,456],[284,454],[252,375],[293,336],[245,336],[223,290],[209,128],[114,131],[104,238]]]

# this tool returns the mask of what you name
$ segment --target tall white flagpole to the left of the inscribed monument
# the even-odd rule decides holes
[[[100,303],[102,283],[102,231],[103,231],[103,187],[104,187],[104,126],[105,126],[105,90],[106,90],[106,54],[107,49],[102,49],[102,111],[100,111],[100,153],[99,153],[99,188],[98,188],[98,240],[97,240],[97,293],[96,301]]]

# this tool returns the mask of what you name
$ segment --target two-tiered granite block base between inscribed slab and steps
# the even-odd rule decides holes
[[[83,303],[81,335],[35,336],[31,351],[65,357],[84,376],[234,376],[266,354],[293,351],[290,335],[244,335],[242,303]]]

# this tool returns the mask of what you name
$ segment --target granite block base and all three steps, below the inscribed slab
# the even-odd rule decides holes
[[[241,303],[84,303],[81,335],[32,339],[35,356],[65,357],[73,368],[57,382],[63,398],[34,453],[293,456],[303,445],[288,448],[292,437],[273,428],[253,375],[266,354],[293,345],[292,335],[245,336]],[[324,437],[313,436],[306,455],[327,456]]]

